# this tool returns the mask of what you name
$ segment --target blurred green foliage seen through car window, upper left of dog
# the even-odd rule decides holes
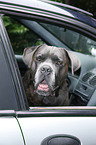
[[[24,48],[33,46],[38,40],[38,36],[24,25],[20,24],[20,22],[8,16],[3,16],[3,22],[15,54],[22,54]]]

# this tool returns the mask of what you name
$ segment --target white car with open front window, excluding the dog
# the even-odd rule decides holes
[[[75,54],[69,106],[29,106],[22,79],[25,48],[47,44]],[[96,144],[96,19],[47,0],[0,1],[0,144]]]

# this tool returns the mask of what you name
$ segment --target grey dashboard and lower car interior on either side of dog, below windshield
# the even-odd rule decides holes
[[[75,55],[81,60],[81,67],[74,73],[71,74],[71,70],[68,72],[66,78],[67,86],[70,94],[70,105],[71,106],[86,106],[95,105],[95,89],[96,89],[96,63],[95,58],[90,58],[80,53]],[[24,64],[22,57],[16,55],[17,63],[21,76],[23,77],[25,72],[28,70],[27,66]],[[93,63],[94,62],[94,63]],[[89,68],[90,66],[90,68]],[[92,101],[93,100],[93,101]]]

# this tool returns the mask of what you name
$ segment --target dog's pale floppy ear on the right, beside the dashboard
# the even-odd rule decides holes
[[[77,71],[80,66],[81,66],[81,63],[80,63],[80,60],[79,58],[74,54],[72,53],[71,51],[68,51],[64,48],[65,52],[67,53],[68,55],[68,58],[69,58],[69,67],[71,68],[71,71],[72,71],[72,75],[74,75],[74,72]]]

